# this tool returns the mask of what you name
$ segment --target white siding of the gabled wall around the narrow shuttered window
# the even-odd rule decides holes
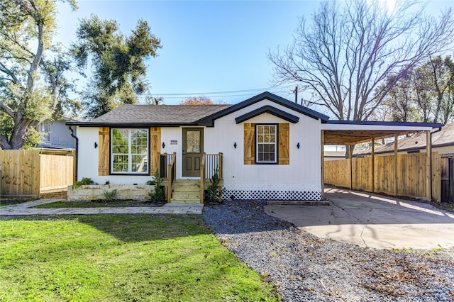
[[[270,113],[262,113],[236,124],[236,117],[266,105],[299,116],[299,122],[289,123]],[[289,123],[289,164],[244,164],[244,123]],[[233,195],[245,199],[314,200],[321,198],[320,133],[319,120],[264,100],[218,118],[214,128],[206,128],[204,151],[223,152],[225,198]],[[235,142],[236,148],[233,147]],[[254,194],[255,191],[259,193]]]

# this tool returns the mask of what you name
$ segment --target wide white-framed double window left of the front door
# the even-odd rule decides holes
[[[111,173],[148,174],[148,129],[111,129]]]

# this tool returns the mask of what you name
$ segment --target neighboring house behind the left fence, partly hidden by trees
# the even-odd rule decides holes
[[[70,129],[65,124],[68,121],[72,120],[64,116],[61,121],[43,122],[38,125],[37,130],[42,134],[42,138],[37,147],[74,149],[76,147],[76,141],[71,136]]]

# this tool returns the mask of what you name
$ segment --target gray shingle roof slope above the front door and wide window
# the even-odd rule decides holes
[[[231,105],[123,105],[90,123],[194,123]]]

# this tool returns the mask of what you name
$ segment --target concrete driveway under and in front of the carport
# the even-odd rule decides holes
[[[454,247],[454,213],[426,203],[327,189],[329,206],[268,205],[265,211],[318,237],[377,249]]]

